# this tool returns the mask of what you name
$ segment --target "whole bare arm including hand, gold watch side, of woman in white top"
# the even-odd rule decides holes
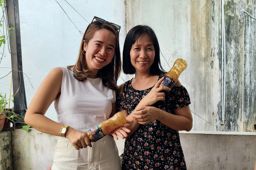
[[[64,125],[54,122],[45,115],[51,103],[61,92],[63,71],[60,67],[54,68],[44,78],[34,95],[25,115],[25,123],[31,127],[48,134],[60,136],[60,129]],[[72,145],[78,150],[91,146],[86,133],[68,127],[66,137]]]

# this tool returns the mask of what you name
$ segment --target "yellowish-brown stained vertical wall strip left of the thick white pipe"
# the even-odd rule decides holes
[[[212,27],[214,18],[212,3],[215,4],[212,0],[204,1],[192,1],[190,6],[190,20],[191,22],[191,51],[192,56],[196,58],[196,62],[194,62],[195,75],[198,75],[198,87],[194,94],[198,95],[196,98],[200,98],[200,94],[205,94],[205,104],[201,105],[201,109],[206,111],[206,117],[209,122],[213,122],[212,120],[212,103],[214,100],[214,95],[212,94],[213,86],[215,84],[212,83],[214,81],[212,79],[213,74],[213,62],[212,62],[212,44],[214,44],[214,28]],[[218,24],[218,23],[216,23]],[[219,34],[219,33],[218,33]],[[214,44],[215,46],[215,44]],[[214,55],[214,54],[213,54]],[[205,117],[205,116],[204,116]],[[208,128],[208,124],[204,124],[205,128]]]

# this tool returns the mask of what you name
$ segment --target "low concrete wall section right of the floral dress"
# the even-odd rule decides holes
[[[180,132],[188,170],[252,170],[255,132]]]

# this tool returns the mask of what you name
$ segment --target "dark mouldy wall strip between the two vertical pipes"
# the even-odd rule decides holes
[[[237,16],[237,7],[234,1],[225,4],[225,34],[226,34],[226,112],[228,131],[239,131],[241,121],[239,108],[242,107],[242,27],[240,16]],[[238,107],[235,107],[238,106]]]

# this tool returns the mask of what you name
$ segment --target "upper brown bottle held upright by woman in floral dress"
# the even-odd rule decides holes
[[[187,62],[185,60],[183,60],[182,58],[178,58],[172,68],[170,69],[170,71],[168,71],[165,76],[164,76],[164,80],[161,82],[160,86],[167,86],[170,89],[174,86],[175,82],[178,80],[180,74],[182,71],[185,70],[185,68],[187,67]],[[163,90],[165,93],[167,93],[166,90]]]

